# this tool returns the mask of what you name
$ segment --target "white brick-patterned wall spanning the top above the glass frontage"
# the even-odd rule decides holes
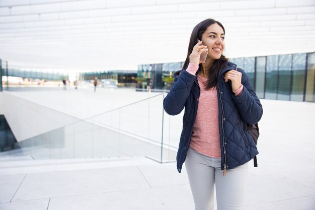
[[[9,6],[12,8],[9,9]],[[40,57],[42,51],[48,50],[41,46],[55,43],[62,46],[63,50],[61,52],[55,50],[57,52],[55,60],[49,59],[53,60],[53,64],[61,65],[70,62],[69,51],[72,50],[78,60],[87,59],[85,52],[88,50],[90,59],[93,58],[97,63],[101,63],[100,66],[103,68],[107,63],[122,64],[120,59],[115,60],[115,56],[100,53],[100,50],[103,52],[103,48],[111,51],[110,48],[119,41],[124,47],[132,49],[134,56],[144,52],[146,56],[143,57],[148,58],[150,54],[154,60],[161,62],[173,57],[178,61],[184,58],[179,58],[179,53],[175,54],[172,50],[164,53],[165,49],[171,46],[174,40],[178,40],[176,43],[185,45],[181,48],[185,48],[186,51],[187,43],[182,40],[188,40],[193,27],[206,18],[214,18],[224,25],[226,39],[231,40],[228,42],[231,45],[230,49],[234,49],[233,45],[236,44],[232,41],[233,37],[238,39],[243,33],[246,33],[243,36],[253,41],[258,36],[256,40],[258,45],[269,42],[275,36],[274,33],[287,33],[289,30],[303,30],[309,35],[308,43],[315,41],[314,0],[295,2],[287,0],[2,0],[0,1],[0,46],[7,47],[2,47],[2,55],[7,57],[0,58],[9,61],[15,59],[12,51],[17,48],[13,46],[19,46],[19,50],[23,50],[29,49],[33,44],[37,46],[36,50],[34,48],[32,51],[33,62],[44,62],[35,58]],[[282,42],[292,42],[294,39],[287,37],[281,36],[281,42],[274,42],[275,48],[287,48]],[[139,47],[141,45],[137,43],[142,43],[143,40],[152,44],[156,54],[152,54],[152,51],[146,52],[147,48]],[[81,44],[84,48],[80,46]],[[312,45],[299,43],[295,46],[294,40],[291,45],[292,53],[297,48],[303,51],[303,48],[309,50],[311,47],[314,51],[315,47]],[[7,52],[4,49],[10,50]],[[260,47],[259,50],[261,54],[267,53],[264,47]],[[238,53],[242,56],[242,53],[247,54],[247,51],[257,51],[257,49],[252,45],[247,49],[244,48],[244,52],[238,50]],[[29,54],[29,51],[20,54],[24,56]],[[124,51],[121,56],[134,61],[130,54]],[[23,57],[17,59],[26,60]],[[129,61],[124,60],[125,63]],[[139,59],[139,63],[150,62]],[[89,67],[89,62],[86,63]]]

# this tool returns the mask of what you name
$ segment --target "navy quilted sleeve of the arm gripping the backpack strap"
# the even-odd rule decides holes
[[[242,73],[243,92],[237,97],[232,97],[243,120],[249,124],[255,124],[263,115],[263,106],[254,91],[249,77],[243,69],[238,68],[238,71]]]

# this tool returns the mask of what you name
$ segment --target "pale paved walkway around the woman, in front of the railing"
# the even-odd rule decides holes
[[[315,103],[262,104],[259,167],[250,162],[244,209],[315,209]],[[179,174],[175,163],[143,157],[39,161],[19,155],[0,157],[2,210],[194,209],[185,168]]]

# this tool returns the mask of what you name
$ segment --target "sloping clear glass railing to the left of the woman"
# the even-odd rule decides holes
[[[166,93],[80,120],[20,143],[34,159],[147,157],[176,160],[181,124],[163,110]]]

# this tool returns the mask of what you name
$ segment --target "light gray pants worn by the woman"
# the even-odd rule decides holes
[[[248,163],[226,170],[221,158],[210,158],[189,148],[185,167],[195,202],[195,210],[212,210],[214,186],[218,210],[242,210],[247,188]]]

